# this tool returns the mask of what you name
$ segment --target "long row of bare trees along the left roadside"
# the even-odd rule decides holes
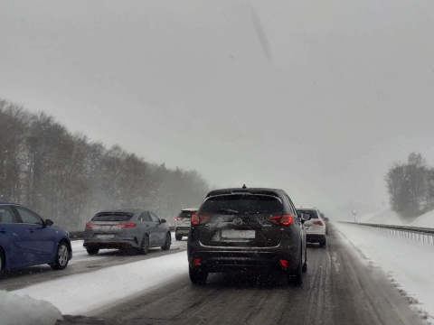
[[[0,99],[0,200],[21,202],[62,228],[82,230],[102,209],[149,209],[173,221],[208,190],[198,172],[107,148]]]

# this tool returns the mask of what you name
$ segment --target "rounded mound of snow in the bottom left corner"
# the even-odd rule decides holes
[[[0,290],[0,323],[2,325],[49,325],[62,319],[61,311],[50,302]]]

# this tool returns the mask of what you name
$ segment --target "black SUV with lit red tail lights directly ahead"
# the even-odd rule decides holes
[[[192,283],[205,283],[209,273],[256,271],[281,272],[301,285],[307,271],[303,218],[284,190],[212,190],[192,216]]]

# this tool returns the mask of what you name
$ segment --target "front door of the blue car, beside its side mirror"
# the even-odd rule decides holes
[[[22,246],[28,252],[31,265],[52,262],[57,249],[57,242],[53,229],[46,227],[44,221],[30,209],[14,206],[23,221],[24,241]]]

